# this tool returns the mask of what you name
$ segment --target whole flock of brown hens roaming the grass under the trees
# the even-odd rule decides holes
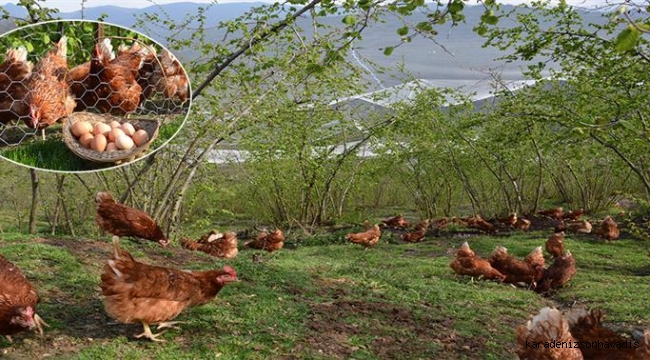
[[[135,335],[152,341],[164,341],[159,338],[161,329],[177,328],[178,322],[172,321],[183,310],[211,301],[227,284],[238,281],[237,272],[231,266],[221,269],[191,272],[174,268],[149,265],[139,262],[131,254],[120,248],[121,236],[137,237],[159,243],[166,247],[170,240],[164,235],[156,222],[145,212],[116,202],[110,193],[100,192],[95,197],[96,222],[100,229],[113,235],[113,250],[103,268],[100,287],[104,295],[106,313],[122,323],[141,323],[144,330]],[[557,211],[559,209],[559,211]],[[555,212],[542,211],[540,214],[557,221],[555,232],[546,241],[545,248],[553,263],[546,268],[542,246],[536,247],[523,261],[508,254],[505,247],[496,246],[488,259],[476,255],[465,242],[456,253],[450,267],[460,275],[497,280],[510,284],[524,284],[544,293],[565,285],[576,273],[575,260],[564,249],[564,231],[586,232],[584,220],[580,220],[582,209],[563,213],[561,208]],[[568,221],[565,222],[565,220]],[[516,214],[506,219],[486,221],[480,216],[471,218],[442,218],[436,221],[423,220],[412,231],[402,234],[407,242],[418,242],[426,236],[432,227],[439,230],[451,223],[482,229],[484,232],[498,232],[497,226],[521,228],[522,223]],[[531,222],[523,222],[530,227]],[[431,225],[433,224],[433,225]],[[496,224],[496,225],[495,225]],[[580,226],[576,224],[581,224]],[[371,226],[366,221],[366,231],[349,233],[346,239],[368,249],[376,245],[381,237],[379,224]],[[383,220],[383,227],[407,229],[411,223],[403,216]],[[591,225],[589,225],[591,231]],[[602,221],[598,236],[607,240],[616,239],[620,231],[611,217]],[[182,238],[181,246],[188,250],[203,251],[212,256],[232,259],[238,254],[237,234],[231,231],[220,233],[216,230],[202,236],[198,241]],[[270,253],[283,247],[284,235],[281,230],[273,232],[263,230],[257,237],[245,244],[245,247],[262,249]],[[20,270],[0,256],[0,334],[10,339],[10,335],[25,330],[43,333],[47,324],[36,313],[38,295],[34,287]],[[650,359],[650,332],[640,335],[636,346],[612,350],[598,348],[557,348],[537,346],[551,341],[571,342],[619,342],[631,344],[608,328],[602,326],[603,314],[599,311],[573,309],[562,314],[556,309],[544,308],[532,321],[517,329],[517,354],[521,359]],[[157,325],[153,333],[150,325]],[[640,345],[639,345],[640,344]]]

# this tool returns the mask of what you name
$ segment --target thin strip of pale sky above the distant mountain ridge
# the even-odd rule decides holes
[[[18,1],[2,1],[1,3],[17,4]],[[50,8],[59,9],[61,12],[71,12],[81,10],[82,0],[46,0],[43,4]],[[95,7],[103,5],[115,5],[125,8],[144,8],[151,5],[162,5],[174,2],[193,2],[193,3],[212,3],[213,0],[84,0],[86,7]],[[273,0],[219,0],[219,3],[232,3],[232,2],[274,2]],[[519,0],[501,0],[501,3],[506,4],[521,4],[529,1]],[[580,7],[594,7],[605,5],[606,0],[567,0],[567,3]]]

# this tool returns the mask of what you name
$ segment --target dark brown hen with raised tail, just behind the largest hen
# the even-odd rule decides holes
[[[163,247],[169,245],[169,239],[147,213],[117,203],[107,192],[97,193],[95,202],[97,225],[113,234],[113,240],[119,240],[120,236],[132,236],[156,241]]]

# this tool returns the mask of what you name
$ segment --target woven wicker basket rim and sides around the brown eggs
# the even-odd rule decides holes
[[[79,140],[72,135],[72,125],[77,121],[87,121],[90,124],[95,124],[97,122],[110,123],[111,121],[117,121],[120,123],[131,123],[136,130],[142,129],[149,134],[149,141],[146,144],[138,146],[130,150],[116,150],[116,151],[104,151],[97,152],[95,150],[86,149],[81,145]],[[70,115],[63,125],[63,142],[65,145],[79,156],[82,159],[99,162],[99,163],[115,163],[121,164],[125,162],[133,161],[144,153],[149,148],[149,145],[158,137],[158,129],[160,128],[160,123],[156,120],[147,120],[147,119],[126,119],[115,117],[108,114],[94,114],[89,112],[76,112]]]

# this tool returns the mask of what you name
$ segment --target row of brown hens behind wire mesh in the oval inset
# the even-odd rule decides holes
[[[99,41],[91,59],[68,67],[67,37],[36,63],[27,60],[24,46],[6,51],[0,63],[0,123],[23,121],[32,129],[65,119],[74,111],[126,115],[155,93],[165,98],[189,97],[189,80],[179,61],[166,49],[133,42],[117,54],[109,38]],[[44,136],[44,130],[43,130]]]

